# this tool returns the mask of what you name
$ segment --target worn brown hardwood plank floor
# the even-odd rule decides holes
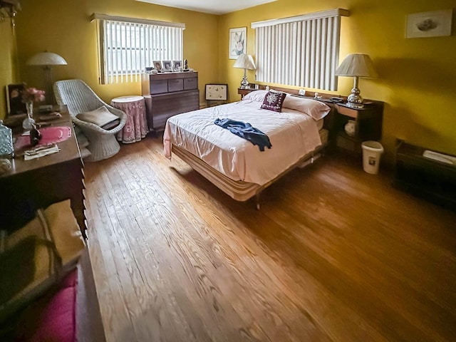
[[[86,164],[108,341],[456,341],[456,213],[323,157],[235,202],[160,138]]]

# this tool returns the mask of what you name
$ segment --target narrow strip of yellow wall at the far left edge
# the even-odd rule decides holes
[[[11,20],[0,21],[0,119],[6,117],[6,91],[7,84],[16,83],[18,80],[16,63],[16,39],[14,38]]]

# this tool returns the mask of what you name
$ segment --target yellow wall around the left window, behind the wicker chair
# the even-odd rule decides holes
[[[40,51],[63,56],[68,66],[53,68],[53,81],[81,78],[103,100],[120,95],[140,95],[141,84],[98,83],[98,50],[93,13],[132,18],[174,21],[186,24],[184,58],[198,71],[200,98],[204,84],[217,80],[217,16],[157,6],[133,0],[21,0],[22,12],[17,19],[17,41],[21,80],[29,86],[44,87],[43,72],[26,66],[26,60]]]

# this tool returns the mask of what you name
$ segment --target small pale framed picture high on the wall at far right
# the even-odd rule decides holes
[[[405,38],[451,36],[452,9],[408,14]]]

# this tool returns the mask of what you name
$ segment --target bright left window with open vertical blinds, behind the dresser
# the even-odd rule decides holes
[[[138,82],[152,61],[182,61],[185,24],[94,14],[99,19],[100,83]]]

